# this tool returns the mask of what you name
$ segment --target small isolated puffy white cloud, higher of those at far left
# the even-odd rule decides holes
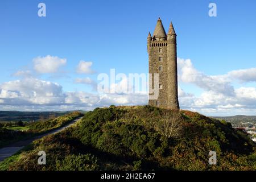
[[[67,59],[47,55],[33,59],[34,69],[38,73],[56,73],[59,68],[67,63]]]

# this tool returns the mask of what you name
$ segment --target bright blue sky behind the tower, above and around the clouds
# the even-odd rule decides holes
[[[38,16],[40,2],[46,4],[46,17]],[[210,2],[217,5],[217,17],[208,15]],[[179,86],[184,92],[184,95],[180,95],[181,108],[196,110],[207,115],[254,114],[256,106],[251,101],[256,101],[254,90],[256,77],[253,73],[251,75],[245,73],[248,73],[248,69],[256,67],[255,7],[256,2],[253,0],[158,1],[157,3],[155,1],[3,0],[0,2],[0,85],[2,84],[0,90],[8,90],[6,82],[13,81],[10,82],[9,87],[16,80],[26,82],[27,78],[24,76],[14,75],[18,71],[28,71],[33,79],[59,84],[62,91],[56,94],[66,92],[72,92],[74,95],[76,92],[83,94],[79,96],[79,104],[72,102],[68,106],[65,104],[60,106],[55,102],[38,103],[31,100],[24,104],[21,101],[18,102],[20,104],[15,104],[16,101],[11,100],[11,96],[4,95],[1,91],[0,100],[2,97],[4,101],[2,104],[0,102],[0,109],[88,110],[96,106],[105,106],[102,105],[103,102],[106,105],[118,105],[115,100],[112,103],[110,96],[108,101],[100,103],[101,98],[96,98],[97,101],[86,105],[80,100],[82,97],[89,99],[87,93],[94,94],[93,97],[98,96],[90,84],[77,84],[74,80],[88,77],[96,81],[98,73],[109,73],[110,68],[126,74],[147,73],[146,38],[148,31],[151,33],[154,31],[156,20],[160,16],[166,31],[171,21],[174,24],[177,34],[177,56],[181,62],[184,62],[183,66],[188,64],[186,60],[191,60],[192,66],[189,68],[199,75],[196,79],[202,78],[201,74],[207,78],[217,76],[218,78],[214,78],[213,81],[215,84],[216,80],[223,79],[223,75],[229,72],[244,70],[242,73],[233,74],[240,77],[229,76],[225,78],[228,81],[222,81],[222,84],[232,85],[237,94],[235,98],[222,97],[220,94],[224,93],[218,90],[205,89],[208,87],[199,84],[200,80],[181,78]],[[36,72],[33,60],[47,55],[57,56],[65,59],[66,62],[55,72]],[[94,74],[76,72],[81,60],[92,62],[90,69]],[[254,69],[250,71],[254,72]],[[181,77],[182,73],[180,71]],[[14,90],[9,89],[9,91]],[[15,93],[21,93],[19,88]],[[204,94],[209,95],[204,96]],[[20,94],[19,97],[23,95]],[[213,96],[227,100],[221,109],[220,103],[205,101],[204,97]],[[228,100],[232,99],[237,100],[229,103]],[[144,103],[144,101],[131,100],[130,97],[126,98],[128,105]],[[187,100],[193,100],[197,104],[187,103]],[[204,103],[199,105],[199,100],[200,103],[204,100]],[[122,103],[126,104],[126,102]],[[83,107],[83,104],[86,106]]]

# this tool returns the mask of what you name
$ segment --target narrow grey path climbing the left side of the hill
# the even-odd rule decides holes
[[[3,147],[3,148],[0,148],[0,162],[3,161],[5,158],[8,158],[12,155],[14,155],[16,152],[18,152],[19,150],[21,150],[24,146],[27,146],[28,144],[30,144],[31,142],[33,142],[34,140],[36,139],[39,139],[39,138],[43,138],[45,137],[46,135],[51,135],[51,134],[55,134],[55,133],[58,133],[60,131],[63,131],[65,130],[67,127],[70,127],[72,126],[75,122],[79,121],[79,119],[81,119],[82,117],[80,118],[77,118],[75,119],[74,121],[68,123],[68,125],[65,125],[63,127],[60,127],[59,129],[55,129],[55,130],[52,130],[52,131],[49,131],[49,133],[45,133],[45,134],[42,134],[42,135],[38,135],[36,137],[33,137],[33,138],[30,138],[30,139],[26,139],[26,140],[20,140],[19,142],[15,142],[13,144],[9,144],[9,146],[7,147]]]

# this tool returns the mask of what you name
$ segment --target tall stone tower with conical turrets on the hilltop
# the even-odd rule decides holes
[[[152,74],[150,86],[152,85],[153,89],[154,73],[159,74],[159,96],[157,99],[148,100],[148,105],[167,109],[179,109],[177,95],[176,33],[172,23],[166,35],[162,20],[160,18],[158,19],[154,34],[151,36],[150,32],[148,33],[147,52],[149,73]]]

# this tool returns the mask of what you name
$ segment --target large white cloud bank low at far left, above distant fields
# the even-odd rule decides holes
[[[0,98],[10,105],[59,105],[64,102],[59,84],[36,78],[4,82],[0,85],[0,93]]]

